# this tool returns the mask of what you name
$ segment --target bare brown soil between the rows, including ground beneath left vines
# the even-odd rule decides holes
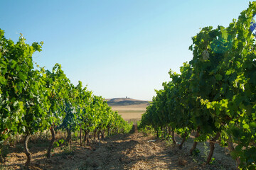
[[[73,145],[74,152],[56,149],[51,159],[46,159],[45,150],[33,150],[31,169],[220,169],[198,164],[186,148],[167,147],[165,141],[137,132],[137,127],[132,134],[107,137],[90,147]],[[6,168],[23,169],[25,161],[25,154],[11,153]]]

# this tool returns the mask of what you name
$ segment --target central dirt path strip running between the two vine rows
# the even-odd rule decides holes
[[[134,133],[116,135],[94,145],[80,167],[74,169],[194,169],[196,166],[181,160],[181,155],[171,153],[166,142],[144,136],[134,126]],[[173,150],[174,151],[174,150]],[[178,149],[176,149],[178,152]],[[82,157],[82,155],[80,154]]]

